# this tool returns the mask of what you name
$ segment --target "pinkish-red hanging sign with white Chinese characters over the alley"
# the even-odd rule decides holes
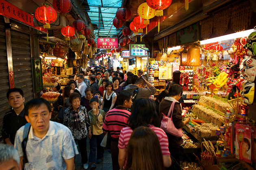
[[[118,48],[118,38],[97,38],[98,49],[116,49]]]

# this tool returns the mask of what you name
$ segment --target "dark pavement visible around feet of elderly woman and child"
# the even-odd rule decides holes
[[[90,154],[90,143],[89,143],[89,139],[87,138],[87,155],[88,155],[88,159],[89,159],[89,154]],[[75,166],[76,166],[75,170],[84,170],[84,168],[82,168],[82,162],[81,162],[81,155],[80,155],[80,153],[79,153],[79,155],[75,156]],[[96,164],[96,167],[97,167],[96,170],[112,170],[113,169],[112,168],[111,153],[109,153],[107,149],[104,149],[104,159],[103,159],[103,162],[100,163],[100,164]],[[87,170],[89,170],[89,169],[90,168],[88,168]]]

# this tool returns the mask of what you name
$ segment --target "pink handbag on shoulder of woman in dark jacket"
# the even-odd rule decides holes
[[[161,121],[161,129],[163,129],[166,133],[171,134],[176,137],[181,137],[183,135],[182,129],[177,129],[174,125],[174,122],[172,121],[172,113],[174,110],[174,104],[178,102],[177,100],[174,100],[171,103],[171,107],[169,109],[168,115],[165,116],[163,113],[163,119]],[[171,117],[170,117],[171,114]]]

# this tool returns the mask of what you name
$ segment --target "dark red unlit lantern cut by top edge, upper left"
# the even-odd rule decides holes
[[[72,3],[70,0],[53,0],[53,8],[59,13],[68,13],[72,8]]]

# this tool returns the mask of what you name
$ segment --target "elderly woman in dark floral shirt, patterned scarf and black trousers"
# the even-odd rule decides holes
[[[83,168],[88,168],[88,158],[86,149],[86,139],[87,136],[91,138],[90,121],[84,106],[80,105],[81,96],[78,93],[72,93],[69,96],[69,103],[71,106],[67,108],[63,116],[63,125],[67,126],[74,137],[77,140],[81,157]]]

